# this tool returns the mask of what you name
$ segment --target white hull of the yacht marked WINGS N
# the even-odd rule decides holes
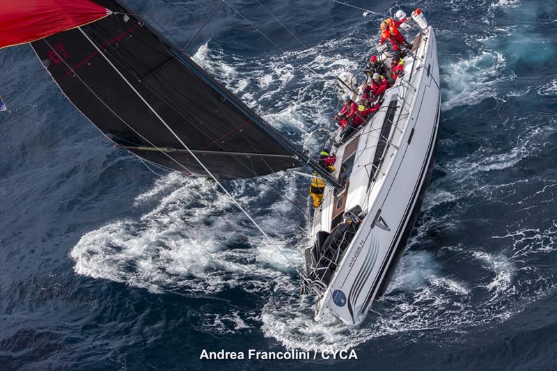
[[[331,220],[356,205],[366,216],[317,302],[315,319],[329,308],[347,324],[358,322],[389,283],[414,225],[431,174],[440,113],[437,45],[431,27],[422,31],[414,51],[418,58],[414,66],[407,58],[404,81],[399,79],[387,90],[382,109],[337,152],[338,165],[355,153],[347,191],[340,198],[326,191],[315,212],[312,235],[330,232]],[[379,132],[389,114],[393,125],[384,134],[389,143],[372,175]],[[341,203],[344,207],[339,207]]]

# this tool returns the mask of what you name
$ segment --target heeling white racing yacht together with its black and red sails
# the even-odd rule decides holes
[[[0,16],[0,47],[29,42],[62,93],[116,148],[211,177],[226,194],[224,180],[311,168],[327,184],[303,280],[317,297],[315,319],[329,308],[353,324],[384,290],[437,143],[437,47],[423,15],[412,16],[419,32],[405,76],[363,129],[332,148],[334,173],[118,0],[3,0]],[[388,65],[389,52],[382,61]],[[353,85],[342,88],[354,93]]]

